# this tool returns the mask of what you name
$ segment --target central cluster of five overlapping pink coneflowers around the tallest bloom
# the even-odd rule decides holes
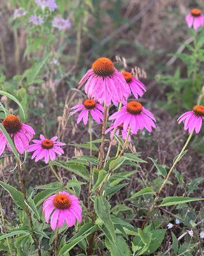
[[[154,115],[145,109],[140,102],[136,100],[128,102],[131,93],[133,93],[135,99],[142,97],[143,93],[146,92],[145,85],[130,72],[120,73],[115,68],[112,60],[102,57],[94,61],[92,68],[79,82],[81,86],[84,83],[84,90],[88,99],[84,100],[84,104],[71,108],[75,110],[70,115],[81,110],[77,118],[77,124],[82,118],[84,124],[87,124],[89,112],[96,122],[103,120],[104,108],[101,104],[104,106],[123,104],[124,106],[109,118],[109,120],[115,120],[105,132],[112,131],[111,139],[114,133],[119,135],[121,131],[122,138],[126,140],[126,137],[129,136],[128,140],[130,140],[128,129],[132,134],[137,134],[139,130],[142,131],[144,128],[151,132],[152,128],[156,127]],[[97,101],[99,103],[96,103]]]

